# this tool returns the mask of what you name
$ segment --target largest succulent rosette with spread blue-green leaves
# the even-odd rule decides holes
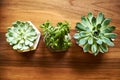
[[[74,38],[84,52],[97,55],[99,52],[108,52],[108,46],[114,46],[116,38],[114,26],[109,25],[110,18],[105,18],[103,13],[94,17],[92,13],[81,17],[81,22],[76,23]]]

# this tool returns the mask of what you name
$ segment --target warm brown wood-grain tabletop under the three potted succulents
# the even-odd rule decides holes
[[[118,34],[115,46],[96,57],[75,44],[67,52],[51,53],[41,37],[34,52],[17,53],[5,38],[16,20],[39,25],[49,20],[71,23],[71,35],[80,17],[103,12],[111,17]],[[120,80],[120,0],[0,0],[0,80]]]

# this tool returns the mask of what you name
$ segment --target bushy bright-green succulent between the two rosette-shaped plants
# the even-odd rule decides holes
[[[58,22],[54,27],[49,21],[40,26],[43,29],[46,46],[53,52],[65,51],[71,46],[68,22]]]

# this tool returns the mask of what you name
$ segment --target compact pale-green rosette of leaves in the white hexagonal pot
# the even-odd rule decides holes
[[[8,28],[6,37],[13,49],[25,51],[33,47],[37,33],[29,22],[16,21]]]

